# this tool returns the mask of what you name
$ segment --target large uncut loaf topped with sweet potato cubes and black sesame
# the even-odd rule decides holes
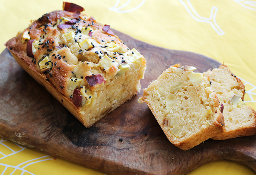
[[[63,10],[42,15],[5,46],[89,127],[137,94],[146,60],[83,10],[64,2]]]

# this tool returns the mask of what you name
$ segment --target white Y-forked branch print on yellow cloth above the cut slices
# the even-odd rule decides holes
[[[195,19],[198,22],[206,22],[211,25],[211,27],[217,32],[219,35],[224,35],[225,32],[219,27],[219,25],[216,23],[216,13],[218,11],[217,7],[211,7],[211,14],[209,18],[206,17],[201,17],[195,10],[194,7],[192,6],[190,0],[186,0],[188,2],[188,5],[183,0],[179,0],[181,4],[186,8],[187,12],[189,15]],[[213,22],[211,22],[213,20]]]

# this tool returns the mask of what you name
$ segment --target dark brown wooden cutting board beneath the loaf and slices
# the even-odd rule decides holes
[[[176,63],[195,66],[201,73],[220,65],[197,53],[163,49],[114,32],[147,59],[142,88]],[[0,136],[109,175],[183,175],[216,160],[256,171],[256,136],[209,139],[182,151],[168,141],[147,105],[137,103],[142,92],[85,128],[5,49],[0,55]]]

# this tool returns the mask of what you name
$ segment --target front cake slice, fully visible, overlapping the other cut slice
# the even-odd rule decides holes
[[[146,102],[167,138],[187,150],[224,131],[219,100],[210,82],[195,67],[176,64],[146,89]]]

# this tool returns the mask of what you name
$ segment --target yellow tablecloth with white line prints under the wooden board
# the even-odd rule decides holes
[[[256,109],[256,0],[75,0],[87,15],[136,39],[201,53],[225,63],[246,85]],[[0,51],[30,19],[62,10],[61,0],[1,0]],[[2,175],[102,175],[0,138]],[[208,163],[190,175],[255,175],[243,165]]]

